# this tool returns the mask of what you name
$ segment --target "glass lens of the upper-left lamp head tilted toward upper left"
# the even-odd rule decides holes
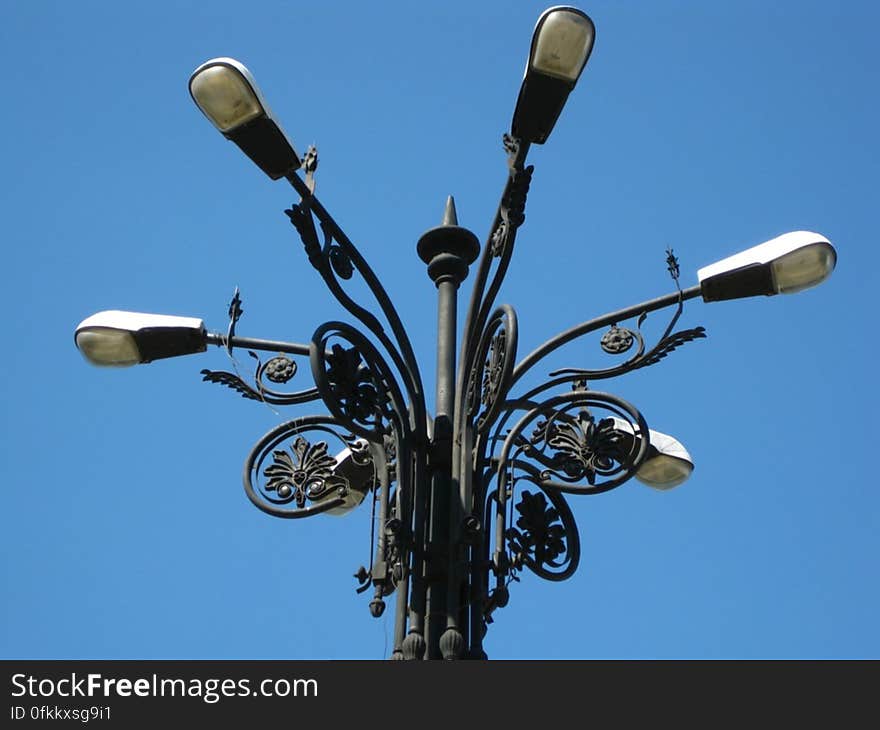
[[[254,90],[231,66],[208,66],[190,82],[193,99],[221,132],[229,132],[265,112]]]

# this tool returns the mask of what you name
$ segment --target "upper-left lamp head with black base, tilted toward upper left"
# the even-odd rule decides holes
[[[244,64],[234,58],[206,61],[193,71],[189,93],[211,124],[273,180],[299,169],[299,155]]]

